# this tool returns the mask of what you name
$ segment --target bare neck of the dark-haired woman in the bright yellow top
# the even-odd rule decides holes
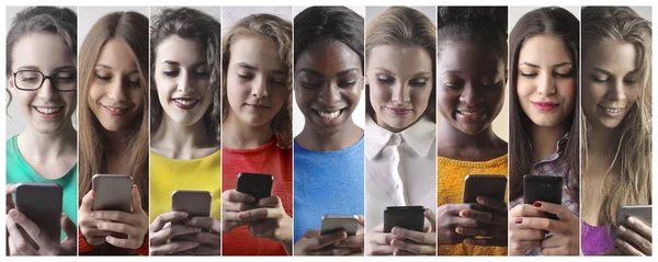
[[[209,137],[203,119],[185,126],[175,123],[167,114],[151,137],[151,147],[163,149],[170,153],[164,157],[173,159],[193,159],[195,149],[217,146],[217,140]]]

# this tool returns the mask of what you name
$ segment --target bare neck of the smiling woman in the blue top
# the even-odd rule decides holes
[[[361,137],[363,137],[363,129],[350,117],[348,123],[332,133],[317,130],[307,121],[295,141],[311,151],[338,151],[356,144]]]

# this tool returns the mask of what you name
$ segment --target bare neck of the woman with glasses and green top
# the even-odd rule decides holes
[[[43,134],[27,127],[19,135],[19,148],[36,160],[56,159],[67,152],[76,152],[77,139],[77,132],[70,122],[52,134]]]

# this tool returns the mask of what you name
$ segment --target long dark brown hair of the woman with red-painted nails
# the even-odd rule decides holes
[[[574,71],[579,76],[578,50],[579,50],[580,22],[574,14],[563,8],[551,7],[535,9],[523,15],[510,33],[510,200],[523,195],[523,175],[530,173],[532,166],[537,162],[532,152],[532,141],[527,134],[527,125],[532,121],[521,109],[519,95],[517,94],[517,79],[519,73],[519,54],[523,43],[535,35],[553,35],[560,38],[574,61]],[[578,79],[578,77],[577,77]],[[578,81],[577,81],[578,84]],[[578,110],[580,109],[580,88],[576,88],[576,107],[574,113],[565,121],[570,122],[568,130],[569,140],[560,158],[567,162],[565,182],[570,178],[580,181],[580,121]],[[541,160],[541,159],[540,159]],[[579,192],[568,191],[576,202],[579,201]]]

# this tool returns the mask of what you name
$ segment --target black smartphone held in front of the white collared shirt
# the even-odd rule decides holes
[[[394,227],[422,232],[423,213],[423,206],[388,206],[384,210],[384,232],[390,232]]]

